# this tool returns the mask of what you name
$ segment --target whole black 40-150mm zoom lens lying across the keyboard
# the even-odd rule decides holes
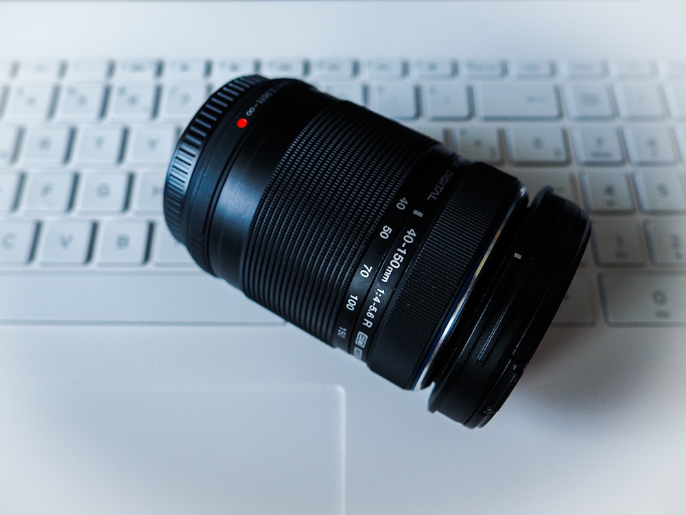
[[[482,426],[589,238],[586,214],[298,80],[211,95],[167,172],[167,225],[204,270]]]

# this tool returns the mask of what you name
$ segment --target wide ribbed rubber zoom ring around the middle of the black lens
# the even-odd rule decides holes
[[[327,341],[372,231],[435,145],[348,102],[324,109],[293,141],[257,207],[246,295]]]

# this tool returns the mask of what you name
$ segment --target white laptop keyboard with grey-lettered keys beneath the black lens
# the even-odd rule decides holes
[[[339,59],[0,61],[0,291],[16,295],[0,321],[278,321],[211,306],[215,282],[161,207],[182,127],[255,72],[309,80],[588,209],[593,241],[556,323],[686,324],[686,61]]]

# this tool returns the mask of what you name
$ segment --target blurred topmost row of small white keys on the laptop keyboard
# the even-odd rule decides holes
[[[0,80],[116,80],[136,81],[169,78],[200,80],[206,77],[233,78],[250,73],[267,76],[315,77],[324,80],[348,80],[355,76],[375,80],[417,78],[548,78],[560,74],[567,78],[646,78],[656,76],[686,76],[686,61],[661,62],[650,60],[569,60],[554,63],[549,60],[451,60],[451,59],[375,59],[355,60],[328,58],[307,60],[283,59],[185,59],[185,60],[50,60],[40,62],[0,61]]]

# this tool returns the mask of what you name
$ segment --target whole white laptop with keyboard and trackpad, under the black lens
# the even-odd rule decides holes
[[[685,20],[679,0],[0,1],[0,513],[686,513]],[[178,130],[256,71],[591,212],[484,428],[174,245]]]

